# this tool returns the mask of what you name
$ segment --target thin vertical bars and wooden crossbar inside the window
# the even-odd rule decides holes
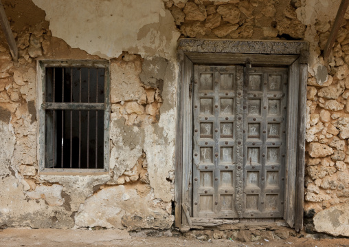
[[[57,78],[56,78],[56,67],[53,67],[52,68],[52,72],[53,72],[53,76],[51,77],[52,80],[52,91],[53,91],[53,96],[52,96],[52,102],[46,102],[46,103],[43,103],[43,109],[46,109],[46,110],[51,110],[52,113],[53,113],[53,121],[52,121],[52,125],[53,125],[53,131],[52,131],[52,138],[53,138],[53,143],[52,143],[52,158],[53,158],[53,165],[52,165],[52,168],[55,168],[57,169],[58,167],[58,163],[60,161],[60,168],[65,168],[65,167],[70,167],[71,169],[73,167],[75,167],[75,165],[73,164],[74,162],[74,159],[73,159],[73,111],[74,110],[78,110],[79,111],[79,122],[78,122],[78,129],[79,129],[79,133],[78,133],[78,136],[79,136],[79,144],[78,144],[78,148],[79,148],[79,152],[78,152],[78,168],[81,169],[81,168],[87,168],[89,169],[91,166],[89,166],[89,162],[90,162],[90,152],[89,152],[89,139],[91,138],[91,135],[90,135],[90,125],[91,125],[91,121],[90,121],[90,111],[92,110],[95,110],[95,169],[98,169],[98,161],[99,161],[99,157],[98,157],[98,144],[99,144],[99,141],[98,141],[98,125],[99,125],[99,119],[98,119],[98,110],[104,110],[105,108],[105,105],[104,103],[98,103],[98,96],[99,96],[99,93],[98,92],[98,89],[99,89],[99,76],[100,76],[100,69],[95,69],[93,70],[93,72],[96,73],[96,77],[95,77],[95,103],[91,103],[91,99],[90,99],[90,96],[91,96],[91,93],[90,93],[90,87],[91,87],[91,69],[88,68],[87,69],[87,74],[85,74],[85,72],[83,72],[82,68],[81,67],[78,67],[78,68],[67,68],[65,69],[64,67],[60,68],[62,69],[62,85],[60,86],[59,84],[56,85],[56,79],[59,78],[58,76],[58,72],[57,72]],[[79,87],[79,100],[78,102],[79,103],[73,103],[73,80],[74,80],[74,71],[76,71],[75,69],[77,69],[79,71],[79,79],[78,79],[78,87]],[[70,70],[70,102],[69,100],[66,101],[65,100],[65,72],[68,72]],[[58,70],[59,71],[59,70]],[[82,75],[83,73],[83,75]],[[87,103],[82,103],[82,101],[85,101],[85,96],[84,98],[82,98],[82,90],[84,90],[84,93],[83,94],[86,94],[85,92],[85,86],[82,87],[82,80],[85,80],[85,76],[87,76]],[[84,78],[84,79],[83,79]],[[61,97],[62,97],[62,100],[61,102],[56,102],[56,86],[61,87],[62,89],[62,94],[61,94]],[[85,101],[86,102],[86,101]],[[60,140],[58,140],[58,137],[57,136],[57,132],[58,132],[58,129],[56,129],[56,120],[59,121],[59,118],[56,118],[56,114],[57,114],[57,110],[60,110],[61,111],[61,147],[60,147],[60,153],[59,153],[59,149],[56,150],[56,148],[58,148],[58,144],[60,144]],[[69,110],[68,112],[70,112],[70,133],[67,132],[69,131],[69,129],[67,129],[65,127],[65,119],[67,116],[65,116],[65,110]],[[85,146],[84,144],[84,149],[87,147],[87,164],[85,165],[85,161],[84,161],[84,164],[82,164],[82,157],[81,157],[81,153],[82,153],[82,139],[81,139],[81,130],[82,130],[82,110],[87,110],[87,146]],[[86,113],[84,113],[84,118],[86,116]],[[103,114],[104,116],[104,114]],[[46,120],[45,120],[46,122]],[[86,125],[85,125],[86,126]],[[58,126],[57,126],[58,127]],[[59,128],[59,127],[58,127]],[[85,129],[85,127],[84,127]],[[64,153],[67,153],[64,151],[65,149],[65,133],[69,133],[70,136],[69,136],[69,141],[70,141],[70,155],[69,155],[69,159],[66,157],[64,158]],[[68,149],[68,150],[69,150]],[[56,153],[56,151],[58,151],[58,153]],[[91,156],[92,158],[93,156]],[[69,164],[66,164],[65,165],[65,160],[69,160]],[[75,164],[77,162],[74,162]]]

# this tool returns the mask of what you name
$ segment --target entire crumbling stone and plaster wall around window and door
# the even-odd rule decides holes
[[[174,217],[179,37],[310,44],[305,216],[349,236],[349,14],[327,63],[340,0],[3,0],[19,48],[0,32],[0,226],[169,229]],[[110,171],[38,173],[36,61],[107,59]]]

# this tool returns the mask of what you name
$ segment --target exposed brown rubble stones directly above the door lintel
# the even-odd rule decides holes
[[[300,1],[164,0],[182,36],[199,39],[303,39]],[[185,3],[186,2],[186,3]]]

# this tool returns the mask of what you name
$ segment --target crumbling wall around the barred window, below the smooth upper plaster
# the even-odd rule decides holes
[[[3,3],[19,61],[12,61],[0,32],[0,226],[170,228],[174,220],[174,60],[168,53],[163,54],[166,58],[153,56],[151,48],[143,56],[115,48],[117,56],[109,58],[110,172],[44,174],[38,171],[36,60],[98,60],[106,55],[92,56],[53,36],[45,11],[32,1]]]

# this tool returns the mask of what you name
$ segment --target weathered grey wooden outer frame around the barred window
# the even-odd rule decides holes
[[[45,71],[47,67],[87,67],[87,68],[103,68],[104,69],[104,168],[103,169],[62,169],[62,168],[46,168],[45,167]],[[38,138],[38,171],[42,174],[56,175],[91,175],[109,172],[109,126],[110,126],[110,72],[109,61],[56,61],[56,60],[41,60],[36,63],[36,114]],[[77,105],[77,104],[76,104]],[[83,105],[83,103],[82,103]],[[83,107],[83,106],[82,106]]]

